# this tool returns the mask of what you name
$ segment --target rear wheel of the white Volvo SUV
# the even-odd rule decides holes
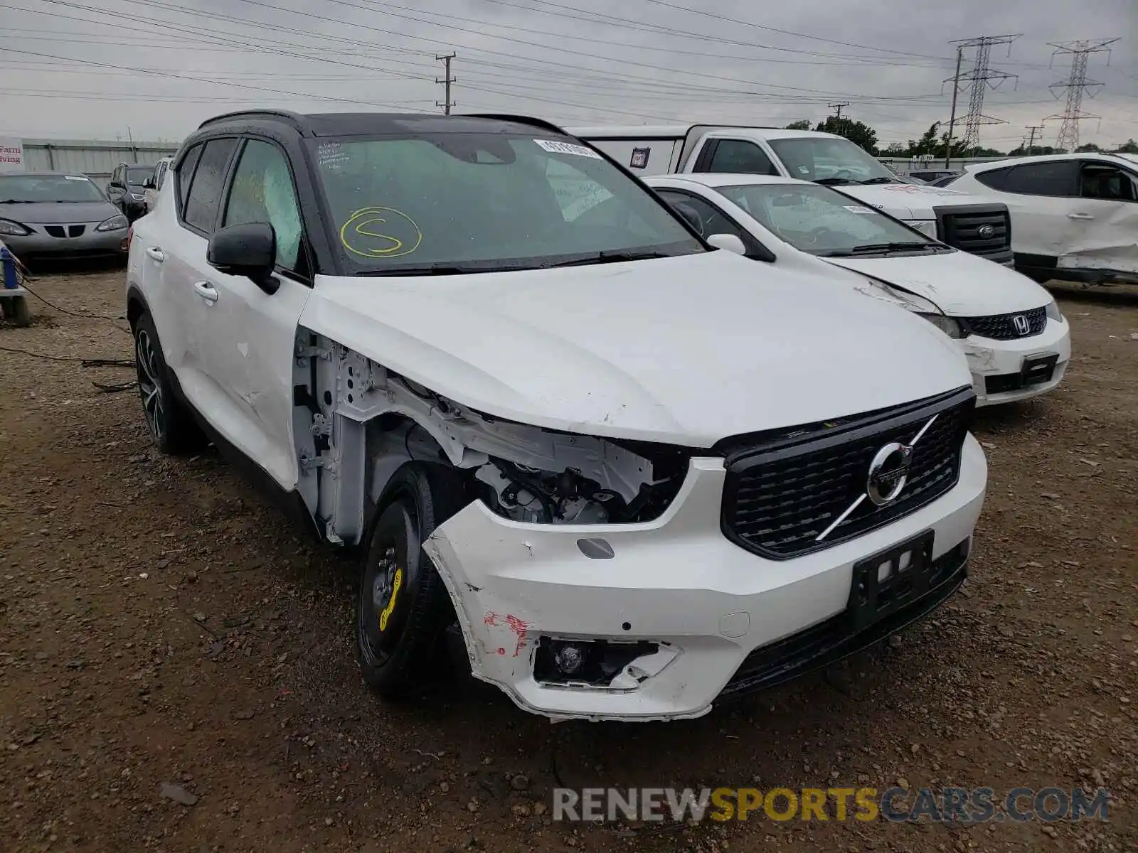
[[[138,371],[142,415],[150,440],[162,453],[179,454],[200,450],[208,442],[193,415],[173,392],[170,368],[162,356],[158,330],[149,312],[134,322],[134,366]]]

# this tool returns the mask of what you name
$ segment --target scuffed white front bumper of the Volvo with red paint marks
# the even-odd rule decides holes
[[[648,523],[523,524],[480,502],[447,520],[426,548],[451,591],[473,674],[554,719],[699,717],[753,649],[842,613],[863,557],[930,529],[934,558],[968,540],[987,463],[970,434],[949,492],[787,561],[765,560],[723,535],[724,478],[721,458],[693,458],[675,502]],[[603,539],[612,556],[597,558],[580,539]],[[534,678],[541,637],[657,643],[675,656],[620,688],[551,686]]]

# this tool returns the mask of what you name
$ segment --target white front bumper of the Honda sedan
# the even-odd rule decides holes
[[[978,407],[1025,400],[1047,394],[1063,380],[1071,361],[1071,326],[1066,320],[1048,317],[1042,333],[1030,338],[992,340],[971,336],[962,340],[960,346],[972,371]],[[1020,375],[1024,359],[1048,355],[1057,356],[1048,381],[1007,388],[1016,384],[1015,378]]]

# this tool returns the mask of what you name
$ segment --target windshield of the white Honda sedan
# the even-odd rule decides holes
[[[826,187],[745,184],[717,188],[795,249],[811,255],[848,255],[884,245],[937,247],[933,240],[893,222],[872,207]]]

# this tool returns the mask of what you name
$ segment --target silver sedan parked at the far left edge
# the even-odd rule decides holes
[[[0,175],[0,239],[23,262],[126,255],[126,217],[86,175]]]

